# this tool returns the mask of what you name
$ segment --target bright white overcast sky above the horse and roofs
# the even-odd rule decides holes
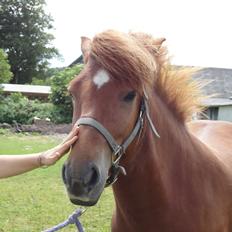
[[[46,0],[53,45],[67,66],[81,55],[80,37],[107,29],[165,37],[176,65],[232,69],[231,0]]]

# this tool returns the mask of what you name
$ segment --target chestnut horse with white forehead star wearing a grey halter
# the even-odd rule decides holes
[[[69,86],[80,125],[63,166],[69,198],[94,205],[113,184],[113,232],[231,232],[232,125],[216,136],[213,124],[187,124],[200,86],[193,70],[169,65],[163,41],[111,30],[82,38],[85,67]]]

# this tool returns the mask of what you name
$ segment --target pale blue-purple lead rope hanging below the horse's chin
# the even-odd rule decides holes
[[[67,220],[65,220],[64,222],[50,228],[50,229],[47,229],[47,230],[44,230],[43,232],[54,232],[54,231],[57,231],[57,230],[60,230],[66,226],[68,226],[69,224],[75,224],[76,227],[77,227],[77,231],[79,232],[84,232],[84,229],[78,219],[78,217],[80,217],[83,213],[84,213],[85,210],[83,209],[77,209],[76,211],[74,211],[69,217]]]

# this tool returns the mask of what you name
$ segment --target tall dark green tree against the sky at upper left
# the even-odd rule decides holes
[[[30,83],[33,77],[41,77],[48,60],[58,55],[50,45],[52,18],[44,6],[44,0],[1,0],[0,47],[8,54],[12,83]]]

